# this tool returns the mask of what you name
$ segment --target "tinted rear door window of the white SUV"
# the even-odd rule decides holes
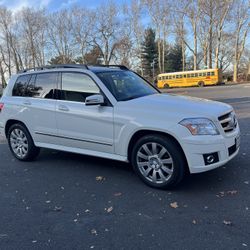
[[[56,88],[57,73],[33,75],[27,89],[30,97],[52,99]]]

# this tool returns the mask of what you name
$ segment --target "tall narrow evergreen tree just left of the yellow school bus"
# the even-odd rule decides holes
[[[154,77],[156,77],[158,66],[155,32],[152,28],[146,29],[144,33],[144,40],[142,43],[142,68],[144,77],[149,80],[154,80],[153,74]]]

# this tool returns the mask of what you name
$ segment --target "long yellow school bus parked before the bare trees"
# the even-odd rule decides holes
[[[163,73],[157,76],[158,88],[207,86],[222,83],[220,69],[203,69]]]

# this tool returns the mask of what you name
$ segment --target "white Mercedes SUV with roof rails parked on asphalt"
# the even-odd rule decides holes
[[[240,141],[231,106],[161,94],[124,66],[18,73],[0,100],[0,134],[19,160],[51,148],[131,162],[158,188],[225,164]]]

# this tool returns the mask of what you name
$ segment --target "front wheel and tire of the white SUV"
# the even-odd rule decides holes
[[[180,146],[157,134],[144,136],[136,142],[131,163],[142,181],[154,188],[172,188],[186,173],[186,159]]]

